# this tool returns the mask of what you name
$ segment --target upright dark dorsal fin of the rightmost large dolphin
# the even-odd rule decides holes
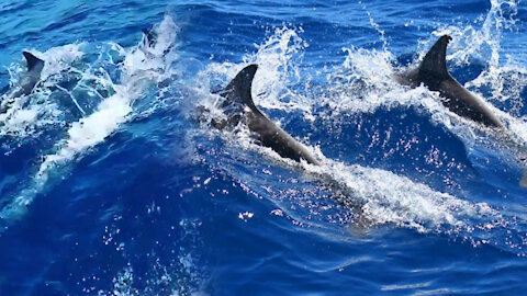
[[[447,69],[447,46],[451,39],[452,37],[449,35],[442,35],[439,37],[421,62],[421,75],[428,75],[435,78],[449,77]]]

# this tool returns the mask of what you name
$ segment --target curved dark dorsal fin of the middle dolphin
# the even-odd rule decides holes
[[[236,75],[231,83],[228,83],[225,90],[221,92],[221,95],[245,104],[256,113],[261,113],[256,107],[255,102],[253,101],[253,95],[250,94],[253,79],[255,78],[257,69],[258,65],[256,64],[251,64],[242,69],[242,71]]]

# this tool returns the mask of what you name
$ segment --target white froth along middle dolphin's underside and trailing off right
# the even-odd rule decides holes
[[[224,136],[232,145],[258,151],[292,168],[299,167],[296,161],[284,159],[271,148],[255,144],[250,133],[247,133],[247,127],[242,130],[246,133],[237,130],[235,136]],[[315,177],[321,177],[322,183],[327,177],[338,182],[349,194],[346,203],[360,205],[359,210],[362,213],[357,214],[365,217],[370,226],[393,224],[421,232],[459,232],[471,231],[474,220],[483,219],[484,223],[490,223],[501,219],[500,213],[486,203],[472,203],[437,192],[425,184],[382,169],[332,160],[326,158],[318,147],[304,146],[321,160],[321,166],[302,162],[300,167]]]

